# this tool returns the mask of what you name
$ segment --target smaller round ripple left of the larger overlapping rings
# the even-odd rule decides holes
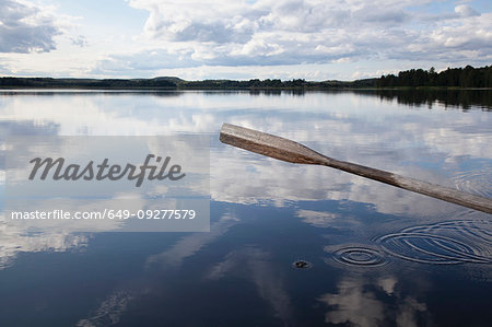
[[[349,266],[377,267],[388,261],[379,250],[362,246],[348,246],[335,252],[325,247],[325,252],[331,253],[337,262]]]

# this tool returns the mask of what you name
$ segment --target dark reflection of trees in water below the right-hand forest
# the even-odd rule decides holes
[[[491,90],[377,90],[355,91],[358,94],[377,95],[382,100],[396,100],[399,104],[410,106],[429,106],[440,103],[447,107],[464,110],[473,107],[482,110],[492,109]]]

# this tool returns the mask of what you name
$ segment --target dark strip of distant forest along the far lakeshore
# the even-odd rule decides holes
[[[290,81],[259,80],[204,80],[185,81],[174,77],[154,79],[52,79],[52,78],[0,78],[0,89],[89,89],[89,90],[340,90],[340,89],[398,89],[398,87],[492,87],[492,66],[448,68],[436,72],[411,69],[398,75],[351,82],[309,82],[303,79]]]

